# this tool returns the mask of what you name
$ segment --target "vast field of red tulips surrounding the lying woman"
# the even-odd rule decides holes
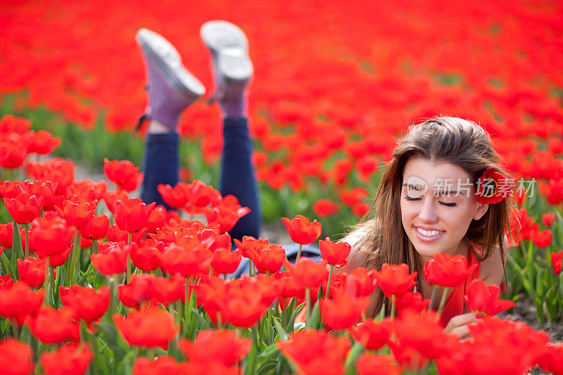
[[[210,96],[211,19],[248,36],[264,220],[322,260],[233,246],[249,209],[213,187],[206,98],[179,124],[182,182],[158,189],[176,210],[136,198],[134,35],[163,34]],[[562,330],[541,329],[563,326],[562,3],[0,1],[0,25],[0,374],[563,374]],[[486,129],[516,181],[506,278],[469,284],[463,338],[407,265],[340,272],[398,136],[441,114]],[[422,276],[451,290],[473,268],[442,255]],[[377,288],[389,316],[366,312]]]

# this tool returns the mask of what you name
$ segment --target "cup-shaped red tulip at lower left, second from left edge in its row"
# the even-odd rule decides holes
[[[71,307],[75,319],[84,319],[91,323],[101,318],[108,310],[110,303],[110,290],[102,286],[98,290],[80,285],[71,285],[68,288],[60,286],[58,293],[65,306]]]

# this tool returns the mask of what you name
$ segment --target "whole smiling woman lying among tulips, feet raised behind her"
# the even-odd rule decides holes
[[[253,72],[248,42],[239,27],[226,21],[205,23],[201,37],[213,57],[215,96],[224,114],[220,191],[234,194],[241,205],[252,210],[230,234],[236,239],[243,235],[258,237],[260,207],[244,114],[246,87]],[[144,118],[151,120],[141,198],[163,204],[158,184],[175,186],[178,182],[179,114],[205,89],[182,66],[179,54],[163,37],[142,29],[137,41],[148,71],[149,101],[141,122]],[[424,263],[438,252],[467,257],[469,264],[478,267],[464,286],[450,293],[442,317],[448,331],[460,336],[469,333],[467,324],[476,317],[464,314],[466,285],[477,277],[487,284],[500,285],[504,274],[510,200],[479,203],[483,200],[478,201],[475,195],[484,171],[492,168],[508,177],[498,162],[488,134],[473,122],[439,117],[410,127],[386,166],[367,216],[370,219],[358,224],[344,239],[353,245],[353,253],[341,272],[405,263],[411,272],[418,272],[418,291],[429,298],[432,288],[421,277]],[[439,300],[441,292],[431,301],[434,308]],[[378,289],[368,314],[373,316],[383,304],[390,310],[388,298]]]

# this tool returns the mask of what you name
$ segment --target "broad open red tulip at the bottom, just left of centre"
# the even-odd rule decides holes
[[[219,362],[232,366],[241,362],[252,347],[249,338],[239,338],[228,329],[207,329],[199,331],[194,342],[180,340],[182,353],[194,362]]]

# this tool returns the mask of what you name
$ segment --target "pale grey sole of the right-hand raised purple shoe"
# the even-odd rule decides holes
[[[200,35],[226,83],[247,84],[254,69],[248,57],[248,39],[241,28],[228,21],[213,20],[201,26]]]

